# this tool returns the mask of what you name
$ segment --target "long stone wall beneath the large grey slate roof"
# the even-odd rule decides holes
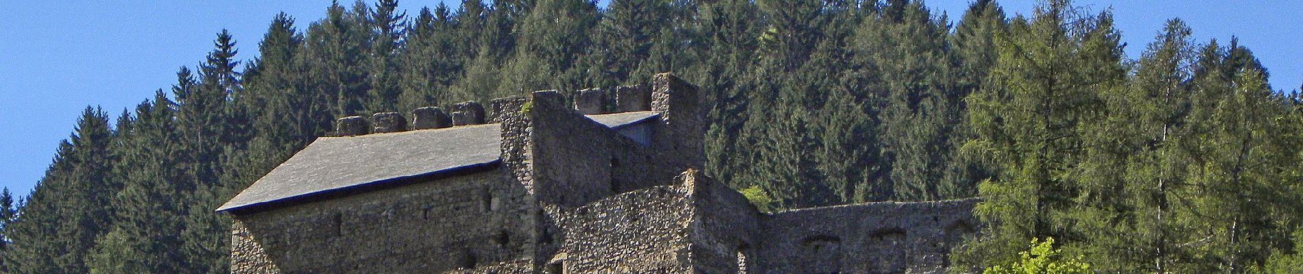
[[[525,199],[486,171],[237,214],[232,273],[530,271]]]

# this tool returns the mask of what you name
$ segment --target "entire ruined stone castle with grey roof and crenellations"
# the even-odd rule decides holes
[[[697,87],[572,97],[341,118],[218,209],[232,273],[942,273],[977,225],[972,199],[762,213],[698,171]]]

